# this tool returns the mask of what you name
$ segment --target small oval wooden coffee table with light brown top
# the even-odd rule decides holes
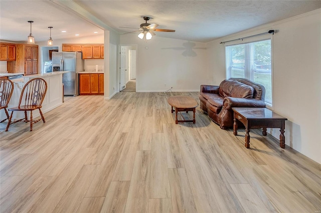
[[[173,96],[167,99],[168,103],[172,106],[172,113],[175,111],[176,113],[176,120],[175,123],[178,124],[179,122],[193,122],[196,123],[195,120],[195,108],[199,105],[198,102],[193,97],[190,96]],[[175,110],[173,109],[175,108]],[[178,120],[177,113],[178,112],[190,112],[193,111],[193,120]],[[184,118],[183,118],[184,119]]]

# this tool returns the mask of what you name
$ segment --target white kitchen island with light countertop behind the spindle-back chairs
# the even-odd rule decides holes
[[[18,106],[20,94],[24,85],[33,78],[43,78],[48,84],[47,93],[44,102],[42,103],[41,111],[46,113],[59,107],[63,103],[62,74],[66,72],[68,71],[26,75],[18,79],[13,79],[14,92],[10,99],[8,109]],[[9,112],[9,115],[10,114],[11,112]],[[33,113],[33,117],[36,118],[38,116],[40,116],[39,111],[35,111]],[[5,119],[6,117],[5,111],[0,111],[0,120]],[[15,121],[21,118],[24,118],[24,112],[15,112],[12,119]]]

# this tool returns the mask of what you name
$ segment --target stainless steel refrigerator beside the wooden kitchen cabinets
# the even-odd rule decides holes
[[[62,76],[64,95],[79,95],[78,72],[84,71],[81,52],[53,52],[52,71],[69,71]]]

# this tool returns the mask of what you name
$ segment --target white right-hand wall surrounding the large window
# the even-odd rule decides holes
[[[321,10],[208,43],[213,84],[225,78],[227,41],[278,30],[273,35],[273,108],[288,119],[285,144],[321,163]],[[269,130],[279,138],[279,130]]]

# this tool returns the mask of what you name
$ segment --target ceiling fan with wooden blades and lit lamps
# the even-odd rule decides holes
[[[140,24],[139,28],[131,28],[131,27],[120,27],[120,28],[131,28],[131,29],[137,29],[136,31],[128,32],[128,33],[133,33],[133,32],[138,32],[142,31],[141,33],[138,34],[138,38],[145,40],[151,39],[152,36],[156,35],[153,31],[158,31],[158,32],[175,32],[175,30],[168,30],[168,29],[157,29],[159,25],[157,24],[149,24],[147,21],[149,21],[149,17],[144,16],[143,19],[145,20],[145,23]],[[124,34],[128,34],[124,33]]]

